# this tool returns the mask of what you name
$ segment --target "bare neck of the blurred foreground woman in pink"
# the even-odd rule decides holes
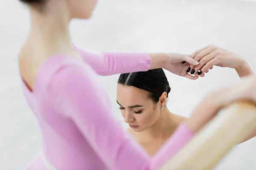
[[[50,56],[56,53],[71,54],[73,52],[68,28],[70,17],[65,5],[56,11],[54,4],[51,4],[44,13],[31,7],[30,12],[31,26],[23,45],[25,51],[33,56],[35,56],[34,53]]]

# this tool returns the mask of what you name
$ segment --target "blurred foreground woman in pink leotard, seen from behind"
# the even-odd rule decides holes
[[[28,169],[155,170],[206,123],[191,119],[181,124],[166,148],[151,159],[112,117],[111,103],[96,74],[163,67],[196,79],[186,73],[188,65],[183,61],[198,62],[182,54],[81,51],[72,45],[68,25],[72,18],[90,18],[96,0],[21,1],[29,5],[31,28],[20,50],[20,76],[43,137],[43,152]],[[247,98],[256,102],[254,96]],[[200,113],[199,109],[196,114]],[[203,117],[208,121],[208,116]]]

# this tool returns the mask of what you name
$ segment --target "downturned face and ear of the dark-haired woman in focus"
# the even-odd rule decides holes
[[[166,108],[167,93],[164,92],[158,102],[153,102],[148,95],[147,91],[134,86],[117,85],[119,109],[124,121],[132,127],[136,126],[132,128],[135,132],[149,132],[160,128],[160,126],[163,126],[162,120],[170,117],[170,112]],[[164,106],[164,108],[161,108],[161,106]]]

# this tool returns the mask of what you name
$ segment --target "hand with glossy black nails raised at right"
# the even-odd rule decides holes
[[[190,57],[199,62],[196,66],[190,66],[190,73],[198,75],[207,72],[215,65],[239,69],[246,63],[239,55],[215,45],[208,45],[207,47],[201,48],[191,54]]]

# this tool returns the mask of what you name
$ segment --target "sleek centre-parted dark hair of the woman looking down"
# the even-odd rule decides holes
[[[159,101],[163,92],[167,97],[171,88],[162,68],[149,71],[125,73],[119,76],[118,82],[121,85],[134,86],[149,92],[149,98],[154,102]]]

